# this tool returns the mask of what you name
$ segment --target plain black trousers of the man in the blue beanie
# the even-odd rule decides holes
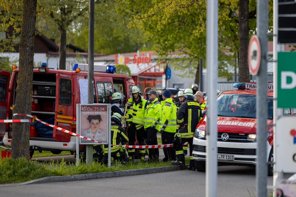
[[[174,140],[174,135],[175,133],[163,131],[163,133],[161,134],[162,144],[172,144]],[[176,151],[173,149],[173,147],[163,148],[163,153],[164,153],[163,162],[167,162],[169,160],[176,161]]]

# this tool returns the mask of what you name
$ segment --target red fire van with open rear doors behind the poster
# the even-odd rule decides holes
[[[51,120],[52,124],[76,133],[76,104],[87,103],[88,65],[74,64],[73,70],[55,70],[46,67],[33,69],[32,112],[31,115],[41,120]],[[19,69],[14,69],[12,76],[1,70],[0,75],[0,118],[12,119],[10,107],[15,104],[17,77]],[[121,92],[125,95],[123,105],[130,98],[129,90],[134,80],[125,75],[115,74],[112,65],[94,65],[94,103],[110,103],[111,95]],[[10,79],[11,78],[11,79]],[[9,83],[10,79],[10,83]],[[3,143],[11,147],[13,129],[12,123],[0,123],[0,138]],[[30,150],[51,151],[59,154],[62,151],[76,151],[76,137],[54,129],[45,133],[30,130]],[[80,145],[82,151],[84,145]]]

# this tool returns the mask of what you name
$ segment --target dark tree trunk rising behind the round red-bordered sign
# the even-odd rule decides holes
[[[249,0],[239,0],[239,59],[238,59],[238,81],[250,82],[250,71],[248,65],[249,46]]]

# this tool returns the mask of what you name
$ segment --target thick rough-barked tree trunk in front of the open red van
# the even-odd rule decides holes
[[[19,73],[13,113],[31,114],[36,5],[37,0],[23,1]],[[15,116],[14,119],[30,119],[30,117]],[[29,159],[30,123],[13,123],[12,128],[11,157]]]

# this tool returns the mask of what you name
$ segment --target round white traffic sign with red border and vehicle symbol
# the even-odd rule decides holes
[[[260,66],[260,42],[257,35],[252,35],[249,43],[248,62],[252,75],[257,75]]]

